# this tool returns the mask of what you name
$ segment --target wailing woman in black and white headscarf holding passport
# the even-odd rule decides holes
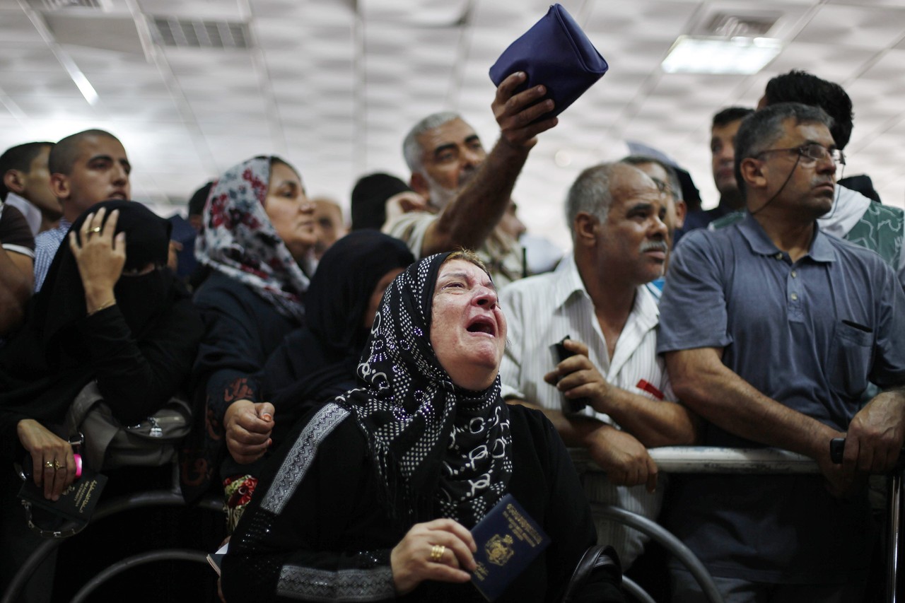
[[[262,474],[224,558],[226,600],[483,601],[471,530],[506,494],[549,545],[497,600],[563,600],[594,523],[554,427],[500,397],[505,345],[496,290],[470,252],[397,276],[359,388],[314,412]],[[623,602],[609,561],[570,600]]]

